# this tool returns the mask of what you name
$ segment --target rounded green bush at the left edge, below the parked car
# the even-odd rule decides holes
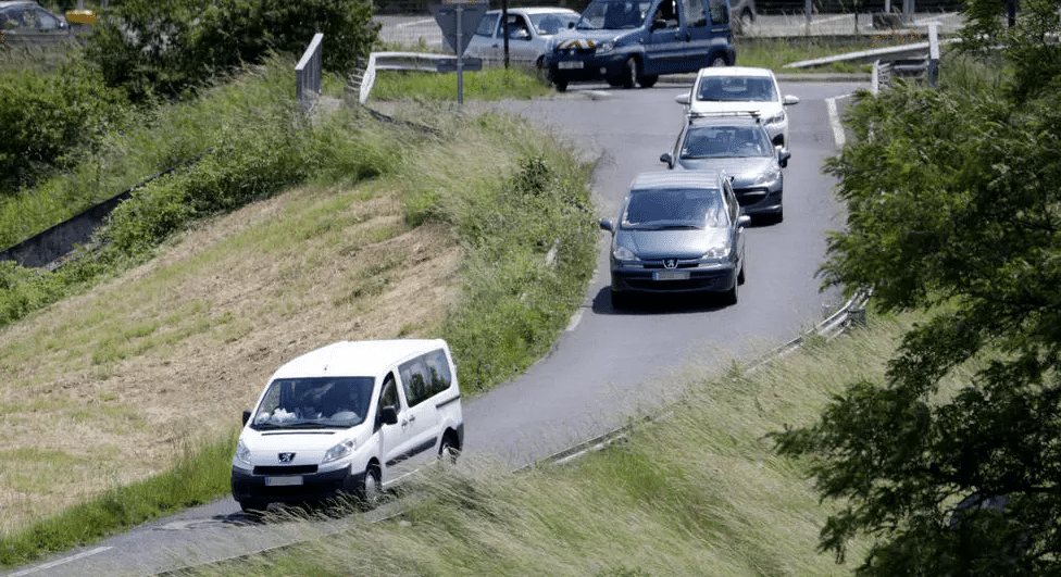
[[[22,70],[0,76],[0,196],[33,186],[90,151],[127,109],[124,95],[78,58],[53,74]]]

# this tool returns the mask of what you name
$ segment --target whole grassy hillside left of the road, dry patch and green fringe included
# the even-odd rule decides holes
[[[445,103],[284,126],[277,66],[208,97],[259,122],[195,124],[220,152],[139,191],[109,244],[0,287],[36,306],[0,329],[0,565],[225,494],[240,412],[302,352],[442,337],[474,393],[581,301],[598,237],[571,150]],[[59,300],[35,304],[35,283]]]

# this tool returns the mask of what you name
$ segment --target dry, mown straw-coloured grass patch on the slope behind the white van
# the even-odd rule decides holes
[[[0,527],[167,469],[237,426],[301,352],[435,336],[460,249],[400,213],[399,196],[372,184],[297,189],[0,331]]]

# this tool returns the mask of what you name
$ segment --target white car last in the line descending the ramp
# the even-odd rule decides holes
[[[701,68],[692,88],[675,100],[686,106],[686,114],[757,114],[771,141],[782,152],[788,150],[788,113],[785,106],[799,98],[782,95],[777,78],[769,68],[721,66]]]

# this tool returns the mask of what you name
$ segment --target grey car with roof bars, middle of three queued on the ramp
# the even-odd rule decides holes
[[[660,155],[670,168],[725,171],[744,213],[784,218],[782,173],[791,154],[778,151],[759,118],[751,114],[691,117],[674,143]]]

